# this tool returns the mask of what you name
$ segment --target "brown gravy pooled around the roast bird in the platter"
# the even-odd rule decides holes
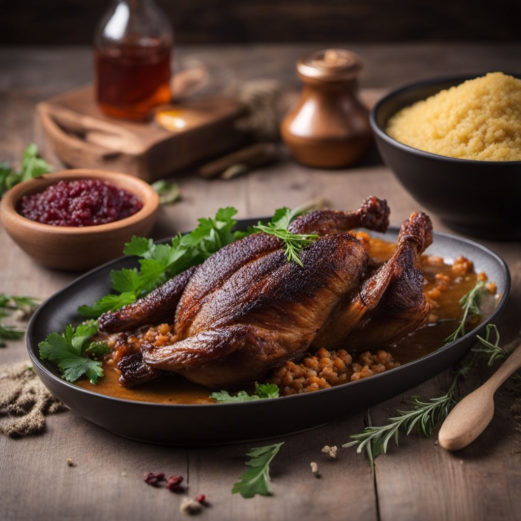
[[[363,243],[371,257],[379,262],[385,262],[395,250],[396,244],[383,241],[381,239],[369,239],[367,234],[361,234]],[[463,316],[463,310],[459,300],[468,293],[476,284],[477,275],[469,272],[462,277],[454,277],[450,264],[430,264],[424,258],[421,269],[424,271],[426,285],[424,291],[427,293],[436,287],[436,275],[443,274],[451,277],[448,288],[441,292],[436,302],[439,307],[435,310],[438,321],[433,324],[423,326],[416,331],[408,334],[395,345],[387,349],[392,353],[394,359],[401,364],[412,362],[428,353],[439,349],[444,339],[448,337],[457,327],[458,320]],[[489,316],[495,305],[495,297],[492,294],[485,294],[481,300],[480,308],[482,318]],[[88,380],[77,382],[79,387],[96,391],[107,396],[114,396],[125,400],[136,400],[140,402],[153,403],[172,403],[172,404],[198,404],[215,403],[209,398],[211,389],[192,383],[178,375],[166,375],[160,380],[144,383],[141,386],[127,389],[118,383],[118,374],[114,366],[103,364],[105,376],[98,380],[93,386]],[[370,378],[370,377],[369,377]],[[246,389],[250,391],[250,389]]]

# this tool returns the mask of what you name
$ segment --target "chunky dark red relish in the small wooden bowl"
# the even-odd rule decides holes
[[[128,190],[97,179],[60,181],[25,196],[21,214],[52,226],[96,226],[125,219],[143,207]]]

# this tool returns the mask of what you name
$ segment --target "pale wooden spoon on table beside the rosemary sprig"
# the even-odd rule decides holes
[[[445,418],[438,443],[448,451],[458,451],[485,430],[494,415],[494,393],[521,367],[521,344],[481,387],[465,396]]]

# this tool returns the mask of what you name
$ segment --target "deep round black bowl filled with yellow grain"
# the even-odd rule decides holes
[[[396,141],[384,130],[388,119],[403,107],[478,76],[483,74],[433,79],[395,90],[371,110],[371,128],[384,163],[416,201],[438,214],[444,224],[474,237],[519,239],[521,161],[431,154]]]

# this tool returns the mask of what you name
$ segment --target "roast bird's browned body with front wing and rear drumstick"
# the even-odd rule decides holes
[[[174,341],[143,343],[143,361],[217,388],[262,378],[298,358],[366,275],[367,253],[346,230],[385,230],[388,215],[386,202],[371,197],[355,212],[297,218],[292,231],[321,235],[302,252],[303,268],[288,263],[281,243],[262,233],[225,246],[187,284]]]

